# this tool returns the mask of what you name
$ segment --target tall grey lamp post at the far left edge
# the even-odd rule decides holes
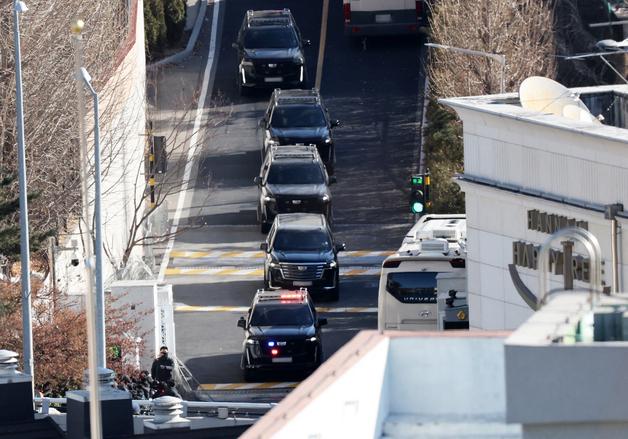
[[[22,54],[20,47],[20,14],[28,11],[26,4],[13,4],[13,36],[15,39],[15,112],[17,115],[17,161],[20,186],[20,257],[22,271],[22,337],[24,373],[35,382],[33,363],[33,325],[31,321],[30,248],[28,240],[28,199],[26,192],[26,147],[24,146],[24,108],[22,99]]]

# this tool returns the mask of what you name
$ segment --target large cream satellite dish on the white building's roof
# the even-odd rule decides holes
[[[600,123],[584,102],[564,85],[542,76],[526,78],[519,86],[521,106],[572,120]]]

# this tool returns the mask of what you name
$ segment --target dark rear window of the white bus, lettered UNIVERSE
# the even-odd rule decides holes
[[[436,303],[435,272],[388,273],[386,290],[401,303]]]

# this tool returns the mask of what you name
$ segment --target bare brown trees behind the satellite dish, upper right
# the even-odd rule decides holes
[[[545,0],[438,0],[432,10],[432,41],[506,56],[506,90],[533,75],[554,77],[553,12]],[[429,76],[437,97],[499,92],[494,60],[445,50],[430,52]]]

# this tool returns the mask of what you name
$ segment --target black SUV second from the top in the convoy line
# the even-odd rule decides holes
[[[340,121],[329,118],[318,90],[276,89],[260,121],[262,156],[272,145],[316,145],[327,172],[332,175],[336,164],[332,128],[337,126]]]

